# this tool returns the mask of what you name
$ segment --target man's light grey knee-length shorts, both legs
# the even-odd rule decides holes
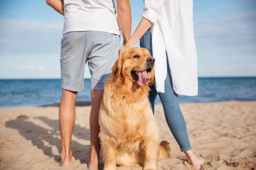
[[[101,31],[68,32],[61,39],[62,88],[84,89],[84,67],[88,61],[91,89],[104,89],[111,67],[118,58],[119,35]]]

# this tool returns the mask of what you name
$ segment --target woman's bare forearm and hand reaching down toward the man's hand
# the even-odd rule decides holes
[[[142,17],[138,27],[132,34],[131,38],[127,41],[125,46],[122,46],[119,48],[119,55],[123,51],[132,48],[151,26],[152,26],[152,23],[146,18]]]

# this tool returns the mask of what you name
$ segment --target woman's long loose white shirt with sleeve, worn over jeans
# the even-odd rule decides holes
[[[144,0],[143,17],[153,23],[152,48],[158,92],[165,92],[168,55],[173,90],[198,94],[197,52],[193,30],[193,0]]]

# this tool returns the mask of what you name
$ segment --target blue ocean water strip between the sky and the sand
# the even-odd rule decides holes
[[[31,107],[59,103],[60,79],[0,80],[0,107]],[[180,103],[256,100],[256,77],[199,78],[198,96],[180,96]],[[76,101],[90,103],[90,79]],[[156,103],[161,103],[159,97]]]

